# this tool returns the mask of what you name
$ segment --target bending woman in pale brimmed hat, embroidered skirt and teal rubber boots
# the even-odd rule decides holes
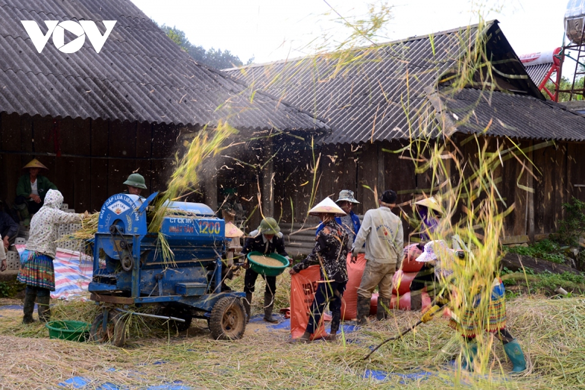
[[[456,254],[464,254],[463,252],[455,252],[449,249],[449,246],[443,240],[430,241],[425,244],[425,250],[417,258],[417,261],[422,263],[434,263],[436,277],[441,281],[449,281],[453,270],[447,264],[456,264]],[[450,261],[441,261],[444,256],[449,256]],[[465,347],[463,349],[465,360],[463,361],[463,368],[471,369],[473,359],[477,354],[477,333],[486,332],[493,333],[504,344],[504,351],[508,358],[514,365],[512,372],[522,372],[526,370],[526,360],[522,348],[518,340],[508,332],[506,329],[506,303],[505,303],[505,288],[502,279],[495,277],[491,286],[490,302],[488,302],[489,320],[482,320],[478,318],[476,308],[480,305],[481,294],[474,295],[473,305],[463,313],[462,318],[456,319],[451,316],[449,326],[457,330],[465,339]],[[449,303],[449,294],[443,294],[437,298],[437,304],[429,309],[421,318],[421,321],[429,322],[433,315],[442,308],[443,305]],[[482,325],[482,323],[484,325]]]

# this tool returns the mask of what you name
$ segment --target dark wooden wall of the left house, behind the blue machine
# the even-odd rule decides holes
[[[168,158],[179,134],[177,126],[2,113],[0,169],[5,181],[0,197],[13,203],[21,168],[35,157],[49,168],[47,177],[75,210],[99,210],[105,199],[125,189],[122,183],[135,170],[146,179],[143,195],[149,195],[165,187],[172,165]]]

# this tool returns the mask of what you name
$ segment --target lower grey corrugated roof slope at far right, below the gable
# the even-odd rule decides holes
[[[459,132],[481,133],[491,121],[491,136],[585,140],[585,118],[559,103],[472,88],[441,97]]]

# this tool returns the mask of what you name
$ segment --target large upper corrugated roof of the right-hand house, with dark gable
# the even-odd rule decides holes
[[[421,130],[436,131],[436,122],[419,123],[428,115],[416,115],[436,109],[427,92],[436,93],[446,73],[460,71],[458,60],[476,44],[478,34],[486,37],[488,56],[507,88],[544,99],[497,20],[479,29],[474,25],[412,37],[355,50],[347,58],[331,53],[225,71],[324,119],[333,129],[324,143],[404,139]]]

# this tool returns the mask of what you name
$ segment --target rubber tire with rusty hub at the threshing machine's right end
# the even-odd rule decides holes
[[[246,330],[246,310],[235,296],[224,296],[211,309],[209,330],[215,340],[241,339]]]

